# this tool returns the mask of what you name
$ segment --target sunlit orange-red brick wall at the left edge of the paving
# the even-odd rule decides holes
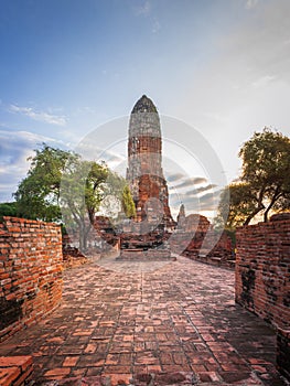
[[[51,312],[62,299],[60,226],[4,217],[0,224],[0,341]]]

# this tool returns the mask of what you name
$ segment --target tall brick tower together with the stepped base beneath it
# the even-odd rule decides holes
[[[165,240],[175,222],[162,169],[160,118],[146,95],[136,103],[130,115],[127,181],[136,205],[136,218],[123,225],[120,258],[170,257]]]

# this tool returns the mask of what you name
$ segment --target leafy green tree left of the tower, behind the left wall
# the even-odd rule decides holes
[[[28,175],[14,193],[17,213],[32,219],[63,221],[77,232],[83,251],[105,197],[116,201],[126,216],[135,215],[126,180],[104,162],[87,161],[45,143],[30,160]]]

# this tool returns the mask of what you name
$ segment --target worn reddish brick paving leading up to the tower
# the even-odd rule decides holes
[[[184,257],[71,269],[62,305],[0,355],[32,355],[33,385],[286,385],[276,335],[235,304],[234,279]]]

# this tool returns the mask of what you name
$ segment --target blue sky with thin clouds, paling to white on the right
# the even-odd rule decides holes
[[[0,200],[39,143],[74,148],[142,94],[198,130],[232,181],[254,130],[290,135],[289,17],[288,0],[1,0]]]

